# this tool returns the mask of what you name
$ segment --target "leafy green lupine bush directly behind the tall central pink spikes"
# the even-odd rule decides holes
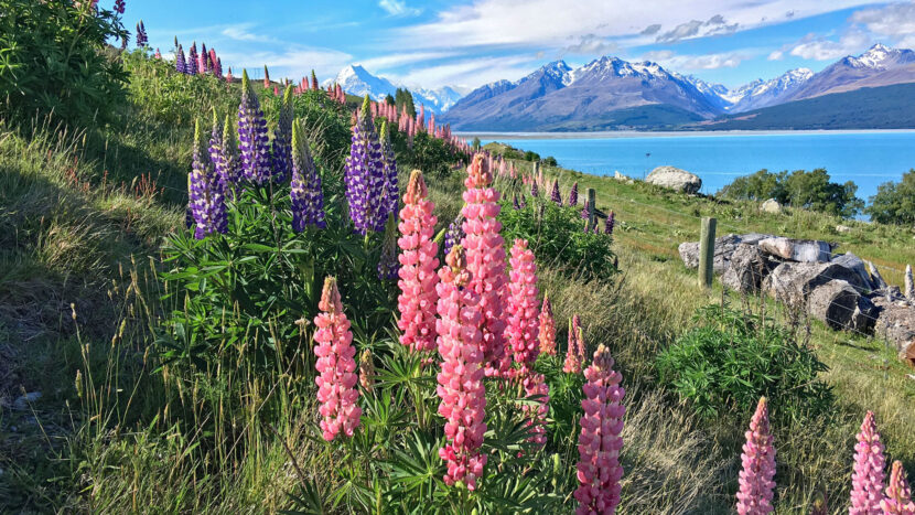
[[[542,196],[528,199],[519,210],[504,201],[498,219],[509,246],[516,238],[527,239],[540,264],[563,270],[570,277],[606,280],[618,271],[610,248],[613,238],[585,233],[580,207],[558,206]]]

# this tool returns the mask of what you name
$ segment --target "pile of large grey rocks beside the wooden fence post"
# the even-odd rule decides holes
[[[699,267],[698,242],[680,244],[679,251],[687,267]],[[713,266],[728,288],[764,292],[830,328],[883,337],[915,365],[911,268],[903,293],[886,283],[873,262],[854,254],[835,255],[826,242],[763,234],[717,238]]]

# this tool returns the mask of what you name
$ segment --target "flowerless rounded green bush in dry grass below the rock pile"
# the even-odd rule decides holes
[[[711,418],[752,412],[760,397],[778,415],[819,415],[832,406],[818,379],[827,366],[794,334],[752,313],[712,304],[697,326],[658,355],[660,382]]]

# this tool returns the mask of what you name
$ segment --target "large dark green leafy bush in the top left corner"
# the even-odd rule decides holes
[[[108,121],[123,99],[127,74],[105,54],[105,42],[123,35],[108,10],[0,0],[0,99],[26,118],[37,111],[67,124]]]

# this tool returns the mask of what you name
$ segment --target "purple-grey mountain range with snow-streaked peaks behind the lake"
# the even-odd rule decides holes
[[[450,106],[443,119],[456,130],[717,128],[718,121],[733,120],[741,114],[756,117],[775,106],[822,96],[829,97],[827,101],[806,105],[842,116],[849,98],[844,94],[866,88],[866,94],[854,98],[868,98],[892,115],[881,127],[915,127],[911,104],[902,104],[900,98],[894,109],[893,98],[881,98],[885,86],[907,83],[915,83],[915,52],[882,44],[818,73],[792,69],[734,89],[667,71],[657,63],[605,56],[579,68],[556,61],[518,81],[486,84]],[[769,126],[778,125],[772,116],[764,118]],[[850,120],[842,121],[848,125]],[[852,126],[854,122],[851,120]],[[861,124],[870,122],[862,119]]]

